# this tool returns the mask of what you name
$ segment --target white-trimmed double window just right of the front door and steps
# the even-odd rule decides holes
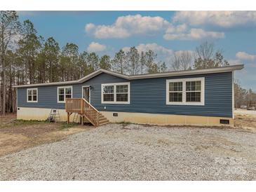
[[[130,83],[102,84],[102,103],[130,104]]]

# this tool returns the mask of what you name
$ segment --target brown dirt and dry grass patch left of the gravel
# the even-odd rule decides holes
[[[0,156],[32,146],[57,142],[68,135],[90,130],[90,125],[17,121],[14,114],[0,116]]]

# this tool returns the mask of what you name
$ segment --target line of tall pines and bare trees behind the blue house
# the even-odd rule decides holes
[[[227,66],[213,43],[201,43],[196,50],[176,51],[168,62],[171,70],[206,69]],[[79,52],[74,43],[62,48],[53,38],[40,36],[31,21],[20,22],[15,11],[0,11],[0,111],[16,111],[13,85],[72,81],[97,69],[110,69],[121,74],[145,74],[168,70],[157,60],[153,50],[139,51],[131,47],[119,50],[114,57],[86,51]]]

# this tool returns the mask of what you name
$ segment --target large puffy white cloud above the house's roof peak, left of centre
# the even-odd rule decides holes
[[[85,29],[98,39],[127,38],[134,34],[150,34],[167,29],[170,22],[161,17],[126,15],[116,19],[113,25],[94,25],[89,23]]]

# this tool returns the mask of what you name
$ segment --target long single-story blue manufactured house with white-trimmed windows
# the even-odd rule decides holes
[[[76,81],[17,85],[17,118],[45,120],[58,109],[60,121],[76,112],[90,121],[94,110],[94,118],[106,122],[234,125],[234,71],[241,69],[243,64],[132,76],[98,69]]]

